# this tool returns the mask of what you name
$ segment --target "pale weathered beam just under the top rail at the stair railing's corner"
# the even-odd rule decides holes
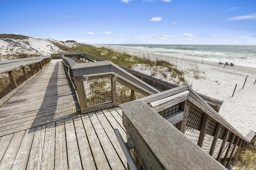
[[[176,104],[184,102],[185,100],[188,100],[189,94],[190,92],[186,90],[184,92],[174,94],[173,96],[151,102],[150,105],[156,112],[159,112]]]

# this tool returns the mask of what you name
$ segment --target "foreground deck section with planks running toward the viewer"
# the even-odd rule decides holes
[[[114,129],[126,132],[112,112],[74,115],[2,136],[1,169],[127,169]]]

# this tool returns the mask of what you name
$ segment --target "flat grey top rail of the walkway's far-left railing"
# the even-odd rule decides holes
[[[43,59],[48,59],[50,56],[40,56],[28,59],[13,59],[13,60],[1,60],[0,61],[0,73],[13,70],[14,68],[21,67],[27,64],[38,63]]]

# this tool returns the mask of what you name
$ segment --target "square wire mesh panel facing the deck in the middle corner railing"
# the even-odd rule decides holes
[[[111,78],[85,80],[84,89],[88,107],[112,102]]]

